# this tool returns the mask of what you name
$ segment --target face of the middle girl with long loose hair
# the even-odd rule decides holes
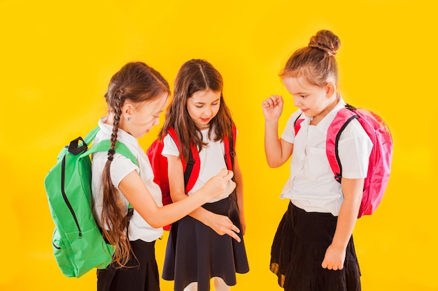
[[[211,119],[218,114],[220,95],[220,92],[204,90],[197,91],[188,98],[188,113],[199,129],[209,128]]]

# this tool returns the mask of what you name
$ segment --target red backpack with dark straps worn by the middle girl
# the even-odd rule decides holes
[[[176,143],[176,147],[180,147],[180,143],[178,141],[178,137],[176,136],[176,132],[174,128],[169,128],[167,130],[167,134],[169,134],[174,142]],[[234,147],[236,145],[236,128],[233,126],[233,136],[232,139],[229,139],[227,136],[224,136],[224,144],[225,144],[225,163],[227,164],[228,170],[232,170],[234,163],[234,156],[236,156],[236,151],[234,151]],[[163,205],[170,204],[172,202],[169,188],[169,176],[167,174],[167,158],[162,156],[161,152],[164,147],[164,143],[159,138],[155,140],[150,147],[146,151],[148,155],[150,165],[152,166],[152,170],[154,173],[154,182],[160,186],[162,193],[162,201]],[[190,145],[189,158],[188,161],[185,161],[183,157],[181,157],[181,162],[183,163],[183,171],[184,171],[184,186],[185,193],[188,193],[192,190],[193,186],[199,177],[199,169],[201,168],[201,162],[199,160],[199,152],[197,146],[195,144]],[[170,225],[163,227],[164,230],[169,230]]]

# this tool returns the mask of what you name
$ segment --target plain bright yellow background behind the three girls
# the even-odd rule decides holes
[[[145,61],[173,84],[179,66],[192,58],[220,70],[239,128],[250,272],[232,290],[281,290],[269,252],[287,206],[278,195],[288,165],[270,169],[265,162],[261,103],[283,94],[283,128],[295,107],[277,74],[319,29],[341,39],[344,99],[381,114],[393,132],[386,197],[354,232],[363,290],[438,290],[437,9],[431,3],[0,0],[0,290],[95,290],[94,271],[65,278],[57,267],[45,174],[60,149],[105,114],[103,94],[123,64]],[[141,140],[145,148],[156,132]],[[157,241],[160,265],[166,239]],[[162,281],[162,290],[171,289]]]

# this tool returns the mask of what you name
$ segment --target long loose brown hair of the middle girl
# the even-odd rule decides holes
[[[201,130],[190,117],[187,110],[187,100],[197,91],[211,90],[220,92],[220,105],[218,114],[210,121],[210,129],[214,128],[213,140],[223,140],[224,135],[232,137],[234,125],[225,100],[222,96],[222,75],[208,61],[204,59],[191,59],[186,61],[178,70],[175,79],[174,98],[167,108],[166,120],[159,137],[163,138],[166,130],[175,128],[178,140],[183,145],[180,147],[180,157],[188,160],[190,144],[196,144],[202,150],[206,144],[202,142]],[[209,130],[211,137],[213,130]]]

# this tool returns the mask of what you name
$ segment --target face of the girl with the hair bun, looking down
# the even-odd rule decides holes
[[[336,91],[332,82],[325,87],[316,87],[307,84],[302,77],[283,77],[283,84],[292,94],[294,105],[313,120],[323,119],[336,105]]]

